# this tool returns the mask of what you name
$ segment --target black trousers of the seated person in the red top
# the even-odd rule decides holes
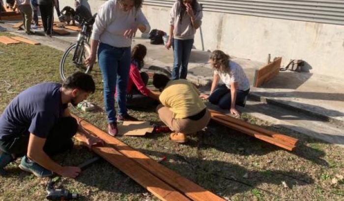
[[[144,85],[147,86],[148,79],[149,79],[148,74],[145,72],[141,72],[140,75],[141,75]],[[133,84],[131,94],[127,95],[127,107],[129,108],[146,108],[152,105],[154,105],[155,107],[158,104],[159,104],[158,101],[153,100],[150,97],[144,96],[138,90],[135,84]]]

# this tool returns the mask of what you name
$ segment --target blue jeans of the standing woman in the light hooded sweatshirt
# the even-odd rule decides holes
[[[186,79],[189,57],[194,39],[173,39],[173,70],[172,79]]]

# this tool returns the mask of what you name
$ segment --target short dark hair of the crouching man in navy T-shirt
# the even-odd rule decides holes
[[[66,89],[80,89],[88,93],[94,93],[95,83],[91,75],[77,72],[68,76],[62,84]]]

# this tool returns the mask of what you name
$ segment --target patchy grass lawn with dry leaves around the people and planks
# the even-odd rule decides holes
[[[61,56],[61,51],[43,45],[0,44],[0,113],[26,88],[44,81],[60,81],[58,65]],[[97,66],[92,75],[96,93],[88,100],[99,109],[92,113],[71,110],[106,130],[102,81]],[[154,110],[130,110],[129,113],[140,120],[161,124]],[[297,149],[284,151],[215,123],[198,136],[191,137],[185,145],[170,142],[168,133],[119,139],[153,159],[167,156],[164,165],[227,200],[344,200],[342,148],[269,125],[245,114],[242,116],[253,124],[299,138]],[[55,160],[63,161],[63,165],[78,165],[93,155],[77,144],[73,151],[67,155],[60,154]],[[6,167],[9,176],[0,176],[0,201],[44,200],[47,179],[21,171],[18,163],[19,160]],[[106,161],[94,164],[76,179],[62,178],[58,185],[85,196],[85,201],[157,200]]]

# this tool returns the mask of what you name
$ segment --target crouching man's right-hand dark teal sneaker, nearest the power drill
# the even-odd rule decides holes
[[[22,158],[19,168],[40,178],[53,176],[52,171],[43,168],[42,166],[30,160],[27,156]]]

